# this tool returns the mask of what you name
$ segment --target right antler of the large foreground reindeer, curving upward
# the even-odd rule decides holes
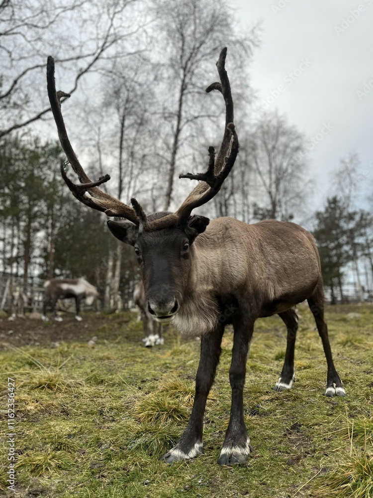
[[[202,206],[212,199],[220,190],[224,180],[229,175],[238,153],[238,137],[234,126],[233,99],[227,72],[225,70],[225,58],[227,48],[220,52],[216,63],[220,77],[220,83],[212,83],[206,92],[219,90],[225,101],[225,130],[223,140],[215,159],[215,149],[209,147],[209,163],[206,173],[187,173],[179,178],[189,178],[190,180],[200,180],[200,183],[190,192],[176,213],[148,223],[146,230],[161,230],[163,228],[177,226],[187,221],[194,208]]]

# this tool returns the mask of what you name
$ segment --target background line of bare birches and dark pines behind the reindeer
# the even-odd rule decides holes
[[[347,299],[351,280],[360,300],[372,294],[372,217],[355,205],[359,158],[341,160],[335,177],[342,183],[310,219],[305,137],[278,112],[252,110],[248,82],[260,26],[240,31],[223,0],[181,0],[172,9],[166,0],[4,0],[0,19],[1,271],[21,276],[24,287],[85,276],[106,308],[118,294],[129,296],[138,278],[130,248],[108,235],[105,217],[85,209],[60,177],[47,55],[56,60],[57,87],[71,94],[62,110],[81,162],[94,179],[110,173],[102,188],[111,195],[126,203],[137,197],[154,212],[180,205],[191,184],[179,174],[204,170],[208,146],[220,142],[221,97],[204,90],[228,45],[240,153],[202,214],[306,222],[331,301]]]

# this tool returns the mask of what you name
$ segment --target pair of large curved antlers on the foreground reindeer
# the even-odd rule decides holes
[[[194,208],[202,206],[202,204],[205,204],[212,199],[219,192],[224,180],[229,175],[238,152],[238,138],[233,124],[233,100],[228,75],[225,71],[226,55],[227,49],[223,48],[220,52],[219,60],[216,63],[220,83],[213,83],[206,89],[206,92],[211,92],[211,90],[219,90],[223,94],[225,101],[225,131],[216,160],[214,147],[209,147],[208,154],[210,159],[206,173],[187,173],[186,175],[179,176],[179,178],[201,180],[201,182],[187,196],[187,199],[183,202],[176,213],[168,214],[154,221],[148,221],[146,214],[136,199],[131,199],[133,206],[133,208],[131,208],[114,197],[105,194],[98,188],[99,185],[110,179],[109,175],[101,177],[96,182],[92,182],[86,175],[71,146],[66,132],[65,123],[62,118],[60,99],[61,97],[70,97],[70,95],[65,94],[64,92],[56,92],[54,80],[54,59],[52,57],[48,57],[48,96],[54,120],[57,125],[58,136],[60,138],[62,148],[67,156],[68,162],[77,173],[79,181],[81,182],[81,185],[74,184],[68,178],[65,172],[64,164],[61,163],[62,177],[69,189],[73,192],[74,196],[87,206],[97,209],[98,211],[103,211],[107,216],[126,218],[135,225],[140,225],[141,228],[147,232],[183,225]],[[87,195],[87,193],[89,195]]]

